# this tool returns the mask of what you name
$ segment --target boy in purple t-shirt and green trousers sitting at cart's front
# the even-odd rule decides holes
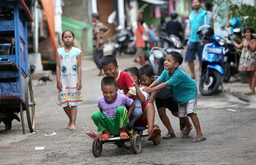
[[[91,115],[91,119],[98,127],[98,132],[103,131],[100,141],[107,141],[112,135],[120,135],[120,139],[129,138],[126,127],[135,103],[133,99],[117,93],[117,90],[117,80],[114,77],[105,76],[101,80],[103,96],[98,99],[100,111],[95,111]],[[128,111],[126,106],[129,107]]]

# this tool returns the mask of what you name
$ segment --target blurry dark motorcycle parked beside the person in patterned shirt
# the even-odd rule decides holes
[[[115,36],[115,44],[113,46],[112,55],[129,54],[133,55],[136,52],[135,38],[132,29],[127,27],[123,29],[121,26],[117,28],[117,35]]]

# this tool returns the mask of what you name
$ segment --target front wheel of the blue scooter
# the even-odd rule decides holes
[[[199,91],[202,95],[212,95],[214,94],[222,80],[222,75],[217,70],[209,70],[209,80],[206,82],[206,72],[201,76],[200,84],[199,84]],[[207,90],[206,90],[207,89]]]

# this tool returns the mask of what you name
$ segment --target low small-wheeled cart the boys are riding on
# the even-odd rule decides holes
[[[154,127],[159,128],[158,125],[154,125]],[[148,136],[148,135],[143,135],[143,131],[147,129],[147,127],[133,127],[133,129],[134,131],[139,132],[139,134],[131,135],[129,136],[128,139],[120,139],[120,137],[118,136],[118,137],[112,137],[106,141],[100,141],[99,137],[95,137],[93,140],[93,146],[92,146],[93,155],[95,157],[101,156],[103,144],[115,144],[118,147],[125,146],[125,148],[127,149],[131,148],[134,154],[141,153],[141,149],[142,149],[141,137]],[[161,135],[157,136],[153,140],[153,143],[154,145],[159,145],[160,141],[161,141]],[[130,143],[130,145],[128,143]]]

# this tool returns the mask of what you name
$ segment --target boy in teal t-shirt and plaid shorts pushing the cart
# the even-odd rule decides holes
[[[199,142],[206,139],[200,128],[199,119],[196,115],[198,89],[196,82],[185,72],[179,70],[178,66],[182,63],[183,57],[178,52],[170,52],[165,57],[164,71],[157,81],[143,91],[151,93],[152,91],[169,87],[171,96],[179,103],[179,117],[185,121],[186,127],[181,132],[181,138],[187,138],[192,129],[187,116],[189,116],[196,128],[196,137],[193,142]],[[163,83],[161,83],[163,82]],[[158,85],[161,83],[160,85]]]

